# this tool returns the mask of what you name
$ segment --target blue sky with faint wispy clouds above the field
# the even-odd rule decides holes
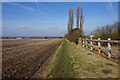
[[[3,2],[2,36],[59,37],[67,33],[69,8],[83,8],[84,34],[118,21],[117,2]]]

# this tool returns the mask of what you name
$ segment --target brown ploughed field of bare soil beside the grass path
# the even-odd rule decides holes
[[[29,78],[51,56],[62,39],[2,40],[3,78]]]

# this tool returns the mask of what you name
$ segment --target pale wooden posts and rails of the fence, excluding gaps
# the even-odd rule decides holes
[[[98,45],[93,45],[93,42],[98,42]],[[107,42],[108,43],[108,48],[105,47],[101,47],[101,42]],[[114,55],[112,55],[111,53],[116,53],[119,58],[120,56],[120,51],[117,50],[113,50],[111,49],[111,43],[117,43],[120,44],[120,40],[111,40],[111,38],[108,38],[108,40],[101,40],[100,38],[98,39],[85,39],[85,38],[79,38],[79,43],[81,43],[83,45],[83,47],[89,47],[91,49],[91,51],[93,51],[93,48],[97,48],[98,53],[102,54],[101,51],[105,50],[107,51],[107,56],[109,58],[114,57]]]

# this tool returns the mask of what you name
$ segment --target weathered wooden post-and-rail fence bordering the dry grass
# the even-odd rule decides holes
[[[94,42],[97,42],[97,45],[94,45],[93,44]],[[108,48],[101,47],[102,42],[107,43]],[[101,40],[100,38],[98,39],[79,38],[79,44],[81,44],[83,47],[90,48],[91,51],[96,52],[101,56],[104,56],[105,58],[108,58],[118,63],[120,58],[120,51],[111,49],[111,43],[120,44],[120,40],[111,40],[111,38],[108,38],[108,40]]]

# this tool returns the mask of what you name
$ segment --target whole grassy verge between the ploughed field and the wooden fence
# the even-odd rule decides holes
[[[118,64],[64,40],[55,58],[51,78],[117,78]]]

